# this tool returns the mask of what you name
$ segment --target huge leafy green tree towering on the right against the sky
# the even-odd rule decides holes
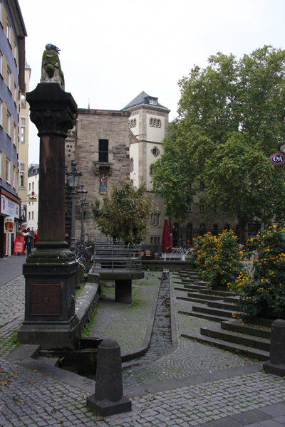
[[[237,216],[243,244],[249,221],[284,223],[284,169],[269,162],[284,139],[284,82],[285,51],[271,46],[239,60],[217,53],[180,80],[178,117],[153,164],[167,215],[185,220],[198,194],[208,217]]]

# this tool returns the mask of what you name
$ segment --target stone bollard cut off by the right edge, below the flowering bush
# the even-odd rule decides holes
[[[270,359],[264,362],[263,369],[285,376],[285,320],[274,320],[271,325]]]

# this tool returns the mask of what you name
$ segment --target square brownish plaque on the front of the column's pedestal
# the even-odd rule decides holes
[[[31,315],[61,315],[61,284],[31,284]]]

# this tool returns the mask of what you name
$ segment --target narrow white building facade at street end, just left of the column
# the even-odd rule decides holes
[[[27,227],[31,231],[38,230],[38,173],[39,164],[30,164],[27,179],[28,202],[26,206],[26,222]]]

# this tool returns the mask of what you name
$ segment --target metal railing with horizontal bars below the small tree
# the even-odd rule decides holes
[[[141,270],[142,247],[140,245],[117,245],[94,243],[93,270]]]

